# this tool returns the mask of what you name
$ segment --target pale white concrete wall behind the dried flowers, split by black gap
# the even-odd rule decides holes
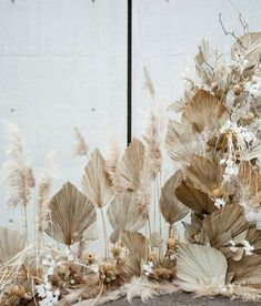
[[[162,108],[182,93],[181,72],[205,37],[225,54],[232,38],[219,24],[241,32],[239,11],[250,30],[261,30],[260,0],[133,0],[133,133],[143,129],[148,101],[143,67]],[[80,186],[84,161],[72,157],[73,125],[90,146],[106,147],[108,126],[126,144],[127,0],[0,0],[0,119],[18,123],[39,173],[57,150],[63,182]],[[6,131],[0,124],[0,162]],[[8,224],[4,188],[0,224]],[[10,224],[9,224],[10,225]]]

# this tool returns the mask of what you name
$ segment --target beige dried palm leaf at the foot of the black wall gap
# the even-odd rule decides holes
[[[123,178],[132,191],[140,186],[141,172],[144,166],[144,151],[143,143],[133,139],[120,161]]]

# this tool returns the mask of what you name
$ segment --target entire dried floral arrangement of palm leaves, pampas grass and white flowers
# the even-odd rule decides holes
[[[1,173],[8,204],[22,208],[23,232],[0,227],[1,305],[98,305],[179,290],[261,300],[260,53],[261,33],[237,38],[229,64],[203,40],[183,98],[170,105],[181,121],[167,129],[144,70],[148,124],[123,155],[116,142],[107,156],[89,154],[76,129],[76,154],[88,159],[81,191],[68,182],[50,196],[52,154],[34,180],[24,140],[10,125]],[[162,182],[164,149],[179,170]],[[100,259],[88,251],[97,214]],[[184,216],[181,238],[175,225]]]

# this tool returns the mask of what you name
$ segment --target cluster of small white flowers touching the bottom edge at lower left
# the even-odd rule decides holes
[[[52,285],[49,283],[49,279],[48,279],[49,276],[51,276],[53,274],[54,261],[52,259],[51,256],[48,255],[42,261],[42,265],[46,268],[44,276],[43,276],[43,283],[36,286],[39,297],[42,298],[39,302],[39,305],[40,306],[52,306],[58,303],[58,298],[60,295],[60,290],[59,289],[53,290]]]

